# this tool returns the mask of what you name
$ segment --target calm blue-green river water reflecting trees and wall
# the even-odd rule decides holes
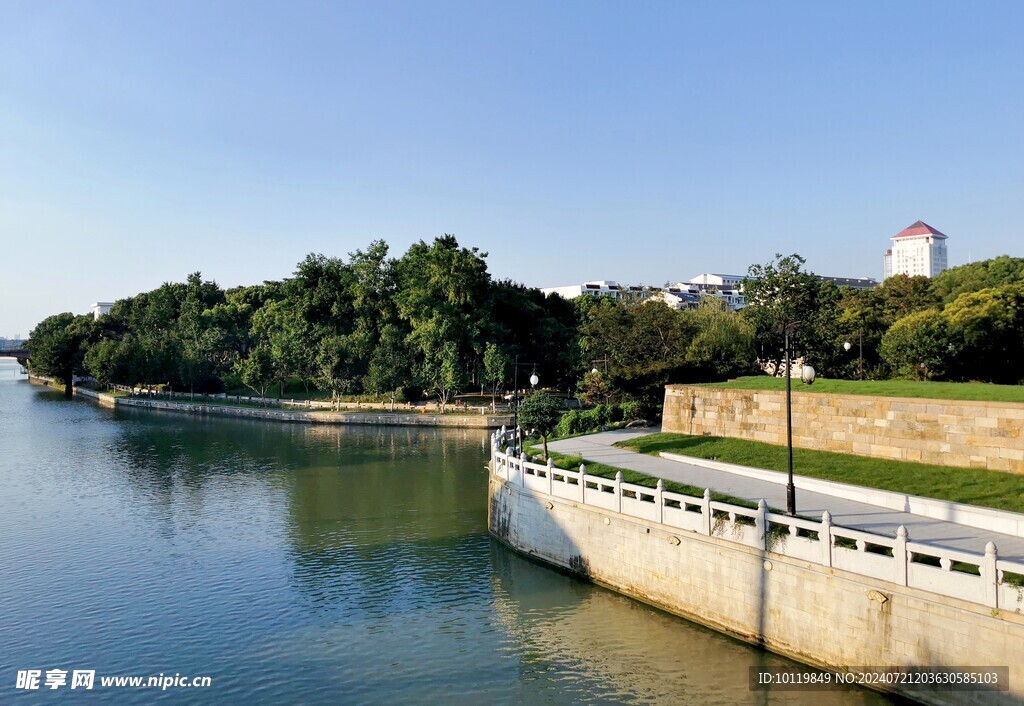
[[[792,663],[490,540],[483,431],[104,410],[17,370],[0,703],[888,703],[753,693],[749,666]],[[68,683],[18,690],[27,669]],[[212,684],[99,683],[158,674]]]

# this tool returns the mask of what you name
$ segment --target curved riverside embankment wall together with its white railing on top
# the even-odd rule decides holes
[[[1006,692],[887,689],[918,701],[1024,700],[1024,590],[1010,581],[1024,565],[993,546],[967,554],[561,470],[493,439],[489,531],[523,554],[836,671],[1009,668]]]

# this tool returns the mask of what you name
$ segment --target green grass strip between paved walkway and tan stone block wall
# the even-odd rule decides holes
[[[780,472],[786,469],[784,446],[741,439],[653,433],[615,446],[654,456],[667,451]],[[809,449],[793,450],[793,466],[799,475],[1024,512],[1024,475]]]

